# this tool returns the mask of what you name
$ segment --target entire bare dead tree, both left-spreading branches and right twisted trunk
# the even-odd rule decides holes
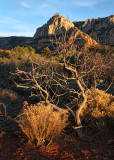
[[[69,112],[73,115],[76,129],[79,137],[84,138],[82,132],[82,123],[80,113],[87,103],[87,97],[90,93],[88,87],[89,79],[91,77],[97,80],[99,73],[102,74],[102,62],[99,62],[99,57],[89,53],[85,46],[83,50],[79,50],[75,44],[75,36],[70,38],[66,33],[54,40],[54,55],[59,57],[59,64],[49,60],[39,60],[33,62],[31,60],[32,69],[28,71],[21,71],[17,69],[16,75],[20,77],[24,83],[17,84],[17,87],[31,88],[36,91],[36,95],[41,96],[43,100],[54,102],[56,98],[69,94],[74,99],[78,99],[78,108],[66,105]],[[62,71],[63,69],[63,71]],[[91,82],[95,84],[95,82]],[[73,84],[73,85],[72,85]],[[63,89],[63,92],[60,92]],[[53,96],[50,94],[52,92]],[[32,93],[31,96],[34,94]]]

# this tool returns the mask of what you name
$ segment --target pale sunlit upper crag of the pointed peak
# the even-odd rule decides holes
[[[74,24],[59,13],[56,13],[45,25],[37,28],[34,38],[60,35],[63,32],[67,32],[70,28],[74,28]]]

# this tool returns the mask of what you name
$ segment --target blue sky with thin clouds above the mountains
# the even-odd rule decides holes
[[[33,36],[55,13],[70,21],[114,14],[114,0],[0,0],[0,36]]]

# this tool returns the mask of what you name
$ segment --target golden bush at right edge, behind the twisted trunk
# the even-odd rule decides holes
[[[86,107],[81,116],[87,123],[113,129],[114,96],[99,89],[91,89]]]

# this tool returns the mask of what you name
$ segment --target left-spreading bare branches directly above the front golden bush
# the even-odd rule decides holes
[[[31,68],[29,70],[16,69],[14,81],[17,87],[29,89],[30,97],[37,96],[46,103],[53,103],[56,99],[66,94],[65,86],[60,83],[59,72],[62,66],[55,61],[50,61],[44,57],[38,57],[35,61],[30,59]],[[58,91],[58,87],[64,90],[64,93]]]

